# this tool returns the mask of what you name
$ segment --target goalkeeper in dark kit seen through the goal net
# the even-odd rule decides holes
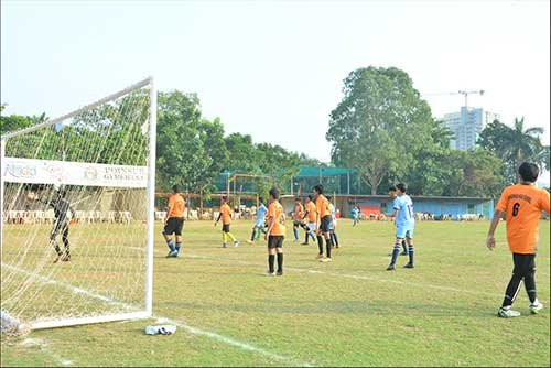
[[[75,212],[73,207],[71,207],[71,204],[67,201],[66,196],[67,192],[64,188],[60,188],[56,191],[54,198],[48,202],[43,202],[44,204],[47,204],[54,208],[54,226],[52,227],[52,232],[50,234],[50,245],[54,247],[57,253],[54,263],[58,261],[71,261],[71,249],[68,241],[68,213],[71,212],[71,215],[75,217]],[[57,245],[56,239],[60,234],[62,235],[62,241],[65,248],[64,251],[62,251],[60,246]]]

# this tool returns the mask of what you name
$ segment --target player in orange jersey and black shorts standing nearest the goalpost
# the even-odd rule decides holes
[[[172,195],[166,206],[166,218],[164,219],[163,236],[169,246],[166,257],[179,257],[182,247],[182,229],[184,227],[185,199],[180,195],[180,185],[172,187]],[[172,235],[176,237],[176,245],[172,241]]]

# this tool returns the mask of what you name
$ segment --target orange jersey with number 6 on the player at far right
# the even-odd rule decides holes
[[[501,193],[496,209],[506,214],[507,242],[511,252],[534,253],[541,212],[549,213],[549,192],[533,185],[511,185]]]

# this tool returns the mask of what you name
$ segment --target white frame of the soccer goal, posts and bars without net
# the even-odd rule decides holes
[[[108,101],[115,100],[119,97],[128,95],[129,93],[143,88],[150,87],[150,106],[149,106],[149,154],[148,154],[148,184],[147,184],[147,249],[145,249],[145,295],[143,310],[129,313],[115,313],[115,314],[104,314],[98,316],[85,316],[85,317],[72,317],[72,318],[60,318],[55,321],[43,321],[43,322],[31,322],[24,325],[24,328],[31,331],[54,328],[54,327],[67,327],[75,325],[93,324],[93,323],[105,323],[115,321],[126,321],[126,320],[138,320],[148,318],[152,316],[153,313],[153,245],[154,245],[154,201],[155,201],[155,159],[156,159],[156,87],[152,76],[138,82],[125,89],[121,89],[115,94],[104,97],[93,104],[86,105],[79,109],[71,111],[55,119],[48,119],[42,123],[29,127],[14,132],[6,133],[0,137],[0,208],[3,215],[3,195],[4,195],[4,156],[6,156],[6,142],[10,138],[14,138],[21,134],[30,133],[39,129],[51,127],[55,123],[62,122],[64,120],[71,119],[84,111],[90,110],[98,106],[101,106]],[[3,245],[3,219],[2,219],[2,230],[0,231],[0,261],[2,258],[2,245]],[[9,312],[9,311],[8,311]]]

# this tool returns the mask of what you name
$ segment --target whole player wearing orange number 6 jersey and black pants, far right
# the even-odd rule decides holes
[[[505,299],[497,315],[504,318],[518,317],[519,312],[511,305],[525,281],[526,292],[530,299],[530,312],[537,314],[542,307],[536,297],[536,252],[538,248],[538,224],[541,212],[549,214],[549,192],[537,188],[536,180],[539,169],[533,163],[525,162],[519,166],[520,183],[505,188],[496,206],[496,212],[486,239],[486,247],[496,247],[494,234],[499,220],[505,217],[507,242],[512,253],[512,277],[505,291]]]

